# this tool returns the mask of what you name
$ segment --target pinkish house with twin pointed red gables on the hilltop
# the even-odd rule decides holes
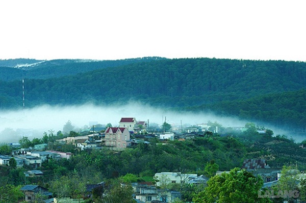
[[[108,127],[104,135],[102,146],[124,149],[130,145],[130,132],[127,128]]]

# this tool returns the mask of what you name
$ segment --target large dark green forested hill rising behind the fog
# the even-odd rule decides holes
[[[21,106],[21,80],[2,81],[0,85],[0,107]],[[290,124],[297,124],[306,114],[303,62],[161,59],[61,78],[26,79],[24,85],[28,107],[88,101],[126,103],[133,99],[180,109],[220,109],[248,118],[256,113],[256,119],[273,122],[280,121],[273,118],[281,117],[275,110],[281,105],[281,121]],[[296,95],[299,104],[287,105],[297,101]]]

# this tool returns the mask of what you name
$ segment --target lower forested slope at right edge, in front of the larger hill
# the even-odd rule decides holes
[[[306,90],[259,95],[250,99],[186,107],[270,123],[287,131],[306,132]]]

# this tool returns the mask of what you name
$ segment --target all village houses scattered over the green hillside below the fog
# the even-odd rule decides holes
[[[78,149],[78,151],[108,149],[117,153],[127,148],[133,148],[137,144],[148,144],[151,139],[159,139],[167,144],[167,140],[177,140],[184,142],[185,140],[194,139],[196,137],[205,137],[213,133],[218,133],[218,126],[213,127],[208,124],[198,124],[187,127],[181,133],[171,130],[164,123],[161,131],[150,133],[148,124],[145,121],[136,121],[135,118],[121,118],[118,127],[100,127],[92,126],[89,133],[83,136],[68,136],[58,139],[59,144],[70,144]],[[245,130],[243,127],[237,130]],[[259,130],[258,133],[265,133]],[[16,167],[26,167],[29,170],[24,172],[24,179],[44,176],[44,171],[39,170],[43,162],[48,160],[70,159],[73,152],[61,152],[55,150],[47,150],[48,144],[35,144],[32,148],[20,148],[19,143],[10,143],[13,147],[11,156],[0,155],[0,165],[10,166],[16,164]],[[12,161],[14,159],[14,161]],[[271,189],[276,185],[281,176],[281,168],[271,168],[265,159],[247,159],[244,160],[241,169],[246,169],[253,173],[254,176],[262,177],[264,181],[263,188]],[[215,171],[215,175],[230,171]],[[153,182],[135,182],[132,183],[133,198],[135,202],[176,202],[182,199],[181,192],[175,188],[167,189],[168,184],[188,184],[206,187],[209,177],[196,173],[184,173],[177,171],[161,171],[156,173]],[[124,183],[121,183],[124,185]],[[34,202],[37,195],[43,194],[46,199],[44,202],[86,202],[91,197],[91,193],[95,188],[105,187],[105,182],[97,182],[96,184],[86,185],[86,196],[80,199],[71,199],[69,197],[56,198],[51,192],[40,185],[24,185],[20,190],[24,194],[24,200]]]

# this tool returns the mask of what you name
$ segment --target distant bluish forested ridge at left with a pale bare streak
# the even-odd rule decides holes
[[[162,57],[142,57],[124,60],[50,60],[32,59],[0,60],[0,80],[48,79],[86,73],[89,71],[118,67],[140,62],[163,60]]]

